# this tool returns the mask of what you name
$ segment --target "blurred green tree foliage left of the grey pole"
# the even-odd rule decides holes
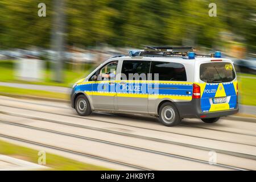
[[[0,1],[1,48],[49,47],[51,37],[51,1],[46,0],[47,16],[38,16],[41,1]]]

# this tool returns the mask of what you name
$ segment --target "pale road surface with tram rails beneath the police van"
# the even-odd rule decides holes
[[[166,127],[154,117],[80,117],[58,102],[0,96],[0,139],[119,170],[256,169],[256,123],[230,119]]]

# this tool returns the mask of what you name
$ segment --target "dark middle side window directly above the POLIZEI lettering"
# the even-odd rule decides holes
[[[122,80],[147,80],[150,61],[124,60],[122,65]],[[126,79],[124,78],[126,76]]]

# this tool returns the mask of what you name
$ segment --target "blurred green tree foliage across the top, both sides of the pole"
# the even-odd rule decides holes
[[[142,44],[225,46],[221,34],[255,52],[254,0],[64,0],[65,41],[70,46],[141,47]],[[46,3],[46,17],[38,4]],[[209,3],[217,17],[210,17]],[[1,0],[0,49],[49,48],[55,13],[51,0]]]

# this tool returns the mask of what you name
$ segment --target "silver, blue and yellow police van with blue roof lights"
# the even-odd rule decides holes
[[[151,47],[110,58],[73,85],[72,107],[150,114],[166,126],[183,118],[205,123],[238,112],[238,84],[221,52],[197,55],[192,47]]]

